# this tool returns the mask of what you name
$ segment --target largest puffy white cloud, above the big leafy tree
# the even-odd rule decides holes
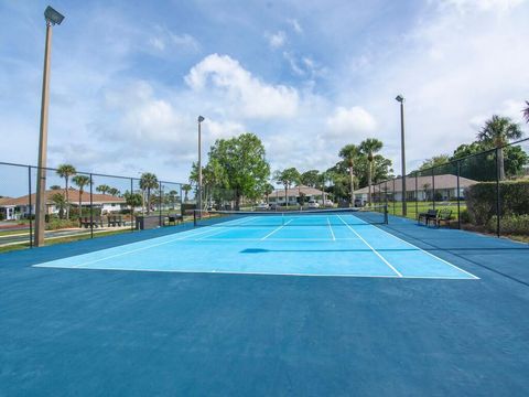
[[[207,86],[242,118],[291,118],[298,112],[299,94],[284,85],[269,85],[227,55],[212,54],[193,66],[187,85],[197,94]]]

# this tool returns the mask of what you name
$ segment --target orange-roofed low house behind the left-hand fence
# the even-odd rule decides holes
[[[54,194],[61,194],[63,197],[66,198],[66,192],[64,189],[46,191],[46,214],[58,214],[60,208],[52,200]],[[68,190],[68,201],[72,207],[77,207],[79,205],[79,191],[71,187]],[[35,193],[31,194],[31,196],[24,195],[17,198],[2,197],[0,198],[0,217],[7,221],[14,221],[21,217],[28,217],[30,213],[35,213]],[[100,208],[102,213],[117,212],[127,208],[127,204],[123,197],[116,197],[109,194],[93,194],[91,204],[95,208]],[[90,205],[89,192],[83,192],[83,194],[80,195],[80,205],[83,207],[88,207]]]

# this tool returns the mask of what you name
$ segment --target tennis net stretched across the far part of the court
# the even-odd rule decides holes
[[[386,205],[310,211],[194,211],[195,226],[350,226],[387,224]]]

